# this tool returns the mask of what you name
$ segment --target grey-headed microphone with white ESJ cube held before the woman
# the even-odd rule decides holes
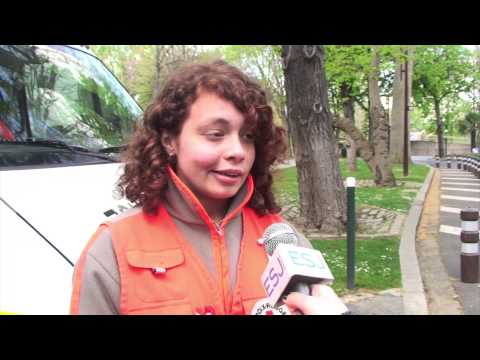
[[[269,255],[261,280],[268,300],[273,306],[291,292],[311,295],[311,284],[331,284],[334,280],[320,251],[298,246],[298,237],[291,226],[274,223],[262,239]]]

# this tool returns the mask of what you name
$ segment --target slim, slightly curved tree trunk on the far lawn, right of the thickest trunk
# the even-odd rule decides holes
[[[368,97],[370,99],[370,118],[372,125],[372,142],[375,151],[375,183],[381,186],[395,186],[390,159],[388,156],[388,123],[385,109],[380,101],[378,86],[380,59],[377,48],[373,49],[372,71],[368,75]]]

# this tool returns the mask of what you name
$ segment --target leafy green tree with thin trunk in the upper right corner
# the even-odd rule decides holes
[[[442,105],[446,99],[458,98],[475,82],[475,67],[469,50],[460,45],[418,46],[413,79],[415,103],[425,115],[435,114],[438,155],[445,156],[445,119]]]

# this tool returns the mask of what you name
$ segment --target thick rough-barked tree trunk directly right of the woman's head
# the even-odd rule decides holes
[[[282,58],[301,215],[307,228],[343,232],[345,189],[328,107],[324,49],[320,45],[283,45]]]

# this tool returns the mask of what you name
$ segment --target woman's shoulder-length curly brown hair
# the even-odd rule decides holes
[[[261,86],[222,60],[187,65],[170,77],[147,107],[122,153],[125,169],[119,191],[147,214],[157,213],[167,187],[167,165],[175,169],[174,159],[162,145],[162,133],[180,134],[200,91],[231,101],[252,126],[256,155],[250,174],[255,190],[248,205],[261,215],[278,213],[281,208],[272,193],[270,166],[285,154],[285,130],[274,125],[273,111]]]

